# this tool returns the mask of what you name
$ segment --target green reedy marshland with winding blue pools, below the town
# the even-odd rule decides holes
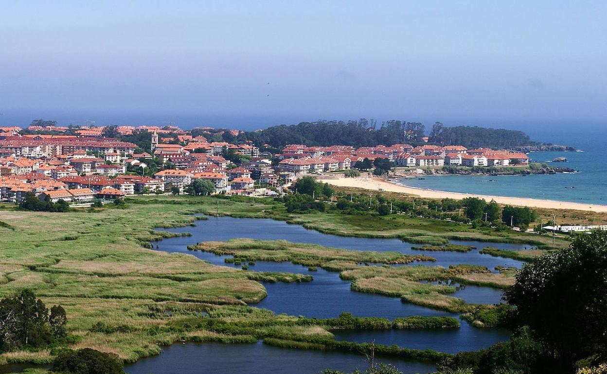
[[[456,222],[287,213],[270,199],[138,197],[124,209],[0,212],[0,295],[32,289],[66,309],[70,347],[127,362],[190,341],[246,343],[240,354],[334,352],[363,366],[359,352],[376,341],[374,350],[405,372],[427,372],[445,356],[509,335],[493,327],[503,307],[492,304],[523,262],[482,253],[487,242],[515,253],[554,248],[537,236]],[[419,251],[410,242],[441,250]],[[342,313],[351,313],[342,318],[350,323],[334,322]],[[183,352],[194,347],[186,346]],[[0,362],[52,357],[50,349],[11,352]],[[137,365],[127,372],[140,372]]]

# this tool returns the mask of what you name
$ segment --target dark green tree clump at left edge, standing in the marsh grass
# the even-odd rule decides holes
[[[0,300],[0,352],[46,347],[66,336],[66,311],[50,309],[30,290]]]

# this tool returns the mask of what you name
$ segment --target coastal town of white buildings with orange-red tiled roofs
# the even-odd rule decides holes
[[[211,182],[212,193],[276,196],[302,175],[367,171],[377,159],[408,168],[529,165],[521,152],[461,145],[289,144],[271,152],[267,144],[211,141],[172,125],[114,127],[113,137],[107,129],[30,125],[22,133],[21,127],[0,128],[0,201],[19,203],[28,193],[73,204],[134,194],[178,195],[198,179]],[[226,131],[239,135],[239,130]],[[149,138],[149,149],[119,139],[134,132]]]

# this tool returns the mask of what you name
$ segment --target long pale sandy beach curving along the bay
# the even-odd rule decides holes
[[[458,193],[458,192],[446,192],[446,191],[435,191],[426,189],[417,189],[415,187],[407,187],[387,181],[381,178],[370,178],[361,176],[359,178],[335,178],[336,176],[321,176],[317,178],[319,181],[327,182],[331,185],[340,187],[357,187],[359,189],[367,190],[384,190],[388,192],[399,192],[407,193],[409,195],[417,195],[421,198],[434,198],[434,199],[463,199],[469,197],[481,198],[486,201],[492,199],[500,204],[509,204],[526,207],[537,207],[545,209],[575,209],[575,210],[587,210],[589,212],[607,212],[607,205],[598,204],[580,204],[578,202],[565,202],[565,201],[554,201],[554,200],[541,200],[541,199],[528,199],[528,198],[509,198],[506,196],[490,196],[490,195],[475,195],[472,193]]]

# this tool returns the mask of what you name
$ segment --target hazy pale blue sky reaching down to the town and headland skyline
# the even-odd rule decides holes
[[[607,2],[9,1],[0,125],[607,125]]]

